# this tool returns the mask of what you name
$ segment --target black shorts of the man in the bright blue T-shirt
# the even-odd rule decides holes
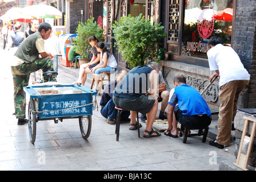
[[[182,111],[179,110],[179,106],[174,107],[174,114],[176,120],[181,123],[186,129],[198,130],[205,129],[211,124],[211,117],[207,114],[199,115],[183,115]]]

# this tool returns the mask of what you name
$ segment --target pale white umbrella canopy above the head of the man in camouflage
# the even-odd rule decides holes
[[[22,13],[33,16],[34,18],[62,18],[61,11],[53,6],[48,6],[45,4],[23,7]]]

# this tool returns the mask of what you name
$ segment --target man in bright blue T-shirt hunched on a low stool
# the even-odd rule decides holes
[[[189,85],[183,75],[175,76],[168,101],[169,127],[164,134],[177,138],[177,122],[186,129],[205,129],[211,123],[211,111],[201,94]]]

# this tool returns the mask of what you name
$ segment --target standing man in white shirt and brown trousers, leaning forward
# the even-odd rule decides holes
[[[237,112],[239,94],[249,84],[250,75],[243,67],[239,56],[233,48],[223,46],[222,40],[213,37],[208,42],[207,52],[209,67],[215,71],[210,81],[219,76],[219,119],[216,140],[210,141],[212,146],[224,148],[230,144],[231,126]]]

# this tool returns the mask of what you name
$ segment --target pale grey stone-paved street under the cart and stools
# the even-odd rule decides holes
[[[81,137],[78,119],[63,122],[38,121],[37,138],[30,143],[27,125],[18,126],[13,106],[13,81],[8,65],[7,51],[0,50],[1,122],[0,170],[218,170],[222,163],[233,166],[234,144],[229,151],[218,150],[201,137],[191,137],[187,143],[182,138],[165,135],[141,138],[137,130],[130,131],[129,123],[121,123],[119,142],[115,141],[115,125],[109,125],[97,110],[93,111],[90,137]],[[69,68],[73,69],[74,68]],[[78,69],[77,71],[78,72]],[[77,76],[59,65],[58,81],[72,83]],[[90,80],[90,79],[89,79]],[[90,82],[86,83],[90,87]],[[99,101],[101,96],[97,96]],[[100,109],[100,108],[99,108]],[[225,148],[225,149],[226,149]]]

